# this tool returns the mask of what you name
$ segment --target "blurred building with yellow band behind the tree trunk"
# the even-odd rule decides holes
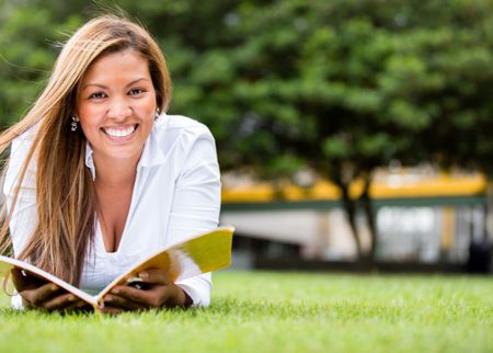
[[[357,258],[339,190],[330,182],[321,180],[309,189],[285,185],[280,192],[248,178],[231,180],[227,175],[223,183],[221,224],[233,225],[244,238],[236,247],[238,261],[244,265],[252,251],[307,260]],[[356,197],[360,189],[355,183],[352,194]],[[486,181],[481,174],[386,169],[376,173],[370,196],[376,209],[378,261],[465,263],[470,243],[488,237]],[[356,224],[368,249],[370,237],[360,210]],[[252,250],[252,242],[262,246]]]

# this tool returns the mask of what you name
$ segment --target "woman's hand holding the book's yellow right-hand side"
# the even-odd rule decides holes
[[[141,289],[133,285],[118,285],[104,296],[103,312],[116,314],[126,310],[151,308],[188,307],[192,299],[171,282],[160,269],[148,269],[138,274]]]

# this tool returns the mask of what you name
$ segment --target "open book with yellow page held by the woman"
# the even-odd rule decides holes
[[[136,263],[131,269],[104,287],[99,294],[90,295],[83,289],[43,271],[27,262],[0,255],[0,277],[7,277],[13,267],[28,272],[28,274],[55,283],[60,288],[90,304],[95,310],[103,305],[103,297],[119,284],[130,284],[138,281],[137,274],[146,269],[162,269],[168,272],[170,280],[182,281],[202,273],[227,267],[231,263],[231,244],[234,228],[223,227],[193,237],[173,247],[161,249]],[[133,284],[139,286],[138,282]]]

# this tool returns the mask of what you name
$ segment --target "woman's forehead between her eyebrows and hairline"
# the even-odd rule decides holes
[[[82,84],[131,81],[136,77],[150,79],[148,60],[135,49],[105,54],[85,71]]]

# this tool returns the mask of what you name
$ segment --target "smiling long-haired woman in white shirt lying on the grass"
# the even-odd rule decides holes
[[[220,179],[202,124],[165,115],[171,83],[162,53],[139,25],[96,18],[64,46],[49,82],[12,143],[1,244],[62,280],[98,292],[157,248],[217,227]],[[139,274],[148,289],[118,286],[105,311],[207,306],[210,274],[171,283]],[[16,305],[82,306],[53,284],[13,274]],[[15,301],[15,300],[14,300]]]

